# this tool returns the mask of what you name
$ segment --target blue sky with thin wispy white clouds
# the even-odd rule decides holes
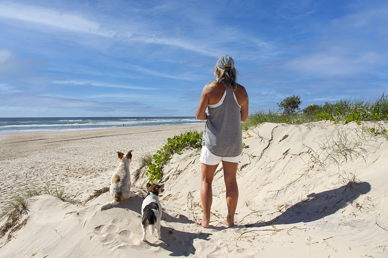
[[[378,99],[385,0],[0,0],[0,117],[194,116],[230,55],[249,111]]]

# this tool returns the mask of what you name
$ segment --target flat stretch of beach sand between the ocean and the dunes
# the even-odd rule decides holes
[[[0,202],[21,190],[63,186],[82,199],[107,186],[118,166],[117,152],[133,150],[131,170],[140,157],[155,153],[168,137],[204,125],[134,127],[0,137]]]

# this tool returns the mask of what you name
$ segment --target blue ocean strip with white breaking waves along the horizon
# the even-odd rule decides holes
[[[195,117],[36,117],[0,118],[0,135],[28,132],[65,132],[122,127],[201,124]]]

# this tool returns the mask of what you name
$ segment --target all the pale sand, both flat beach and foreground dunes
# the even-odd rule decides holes
[[[388,257],[388,141],[372,123],[264,123],[245,132],[238,171],[237,226],[226,228],[221,165],[211,227],[201,218],[200,150],[175,154],[163,169],[162,241],[141,242],[133,197],[100,211],[104,193],[82,204],[49,195],[28,200],[25,226],[0,240],[0,257]],[[379,125],[388,128],[387,122]],[[155,153],[167,137],[204,125],[0,137],[0,200],[31,187],[61,185],[85,200],[109,186],[117,151]],[[146,178],[132,187],[142,191]],[[26,217],[26,216],[25,216]]]

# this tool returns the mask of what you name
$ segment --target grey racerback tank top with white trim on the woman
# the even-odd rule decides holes
[[[225,81],[222,83],[226,85]],[[202,145],[216,156],[236,157],[242,152],[241,107],[233,90],[225,89],[224,102],[217,107],[208,107]]]

